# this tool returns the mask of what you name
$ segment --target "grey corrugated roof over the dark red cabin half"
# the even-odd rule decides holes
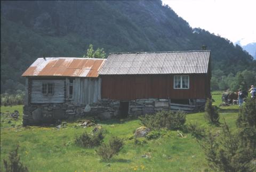
[[[113,53],[99,75],[207,73],[210,50]]]

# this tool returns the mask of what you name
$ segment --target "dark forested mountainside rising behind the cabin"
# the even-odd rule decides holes
[[[21,74],[43,56],[200,50],[212,57],[212,89],[256,84],[256,61],[239,45],[189,23],[161,1],[1,1],[1,93],[25,89]],[[241,79],[242,78],[242,79]]]

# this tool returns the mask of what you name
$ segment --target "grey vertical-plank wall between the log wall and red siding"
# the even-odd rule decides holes
[[[73,88],[75,105],[86,105],[97,102],[100,99],[100,87],[100,78],[75,78]]]

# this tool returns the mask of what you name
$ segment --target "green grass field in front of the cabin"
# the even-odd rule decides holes
[[[213,92],[214,104],[221,103],[221,93]],[[128,138],[140,125],[139,120],[109,120],[99,124],[106,129],[104,142],[111,135],[124,138],[121,152],[109,162],[101,161],[95,148],[84,149],[74,144],[76,135],[91,132],[93,127],[77,127],[77,122],[68,122],[66,128],[55,126],[22,127],[22,106],[1,107],[1,113],[18,110],[21,114],[17,121],[1,115],[1,170],[3,159],[11,150],[20,145],[19,155],[29,171],[204,171],[209,170],[205,155],[196,138],[189,133],[179,137],[177,131],[163,131],[164,135],[156,140],[138,145]],[[220,109],[220,121],[225,119],[234,130],[238,105]],[[10,123],[11,121],[11,123]],[[187,122],[195,123],[209,130],[220,130],[208,124],[204,112],[187,115]],[[142,158],[141,155],[148,155]],[[110,166],[107,166],[110,163]],[[211,171],[211,170],[210,170]]]

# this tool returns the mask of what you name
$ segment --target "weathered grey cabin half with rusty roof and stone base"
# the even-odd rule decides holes
[[[105,59],[38,58],[26,77],[23,123],[67,118],[82,113],[76,107],[101,99],[98,73]]]

